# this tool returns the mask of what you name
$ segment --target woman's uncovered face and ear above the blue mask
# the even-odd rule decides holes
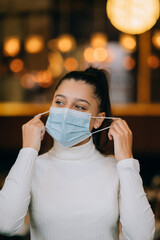
[[[105,116],[105,113],[99,112],[99,100],[94,96],[94,87],[74,79],[64,80],[59,85],[53,97],[52,107],[70,108],[91,113],[92,116]],[[91,119],[90,131],[95,127],[99,128],[102,122],[103,119]]]

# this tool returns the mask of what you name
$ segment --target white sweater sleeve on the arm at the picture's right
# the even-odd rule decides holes
[[[139,162],[117,163],[120,179],[120,221],[125,240],[152,240],[155,220],[139,175]]]

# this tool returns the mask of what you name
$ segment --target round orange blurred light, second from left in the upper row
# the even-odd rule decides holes
[[[31,35],[25,41],[25,49],[29,53],[38,53],[44,48],[44,40],[40,35]]]

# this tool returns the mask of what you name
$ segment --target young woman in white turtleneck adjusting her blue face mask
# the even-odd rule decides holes
[[[119,218],[125,239],[153,239],[132,133],[124,120],[110,120],[105,72],[67,74],[46,126],[40,117],[23,126],[23,148],[0,192],[0,232],[15,234],[29,208],[32,240],[118,240]],[[54,145],[37,157],[45,130]],[[107,139],[114,157],[103,154]]]

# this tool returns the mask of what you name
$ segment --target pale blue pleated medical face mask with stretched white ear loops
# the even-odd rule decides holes
[[[64,147],[71,147],[82,142],[99,131],[109,127],[97,130],[93,133],[89,130],[91,118],[90,113],[80,112],[69,108],[50,108],[50,114],[46,122],[46,130],[57,142]],[[47,113],[47,112],[45,112]],[[45,113],[41,113],[43,115]],[[113,119],[112,117],[102,117]]]

